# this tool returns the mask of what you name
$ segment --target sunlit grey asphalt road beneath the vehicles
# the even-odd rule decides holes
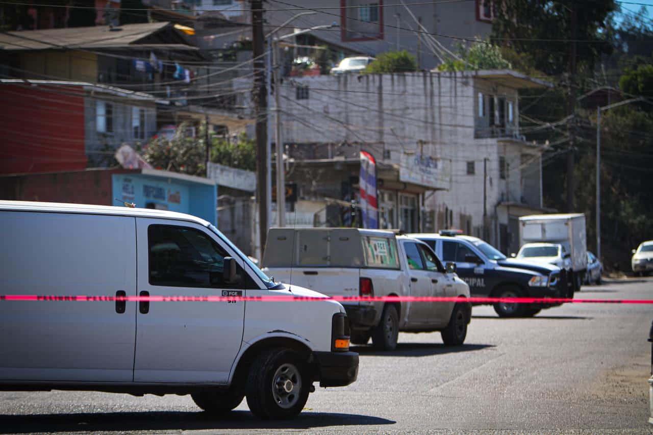
[[[579,298],[653,299],[653,280],[584,287]],[[532,319],[474,307],[464,346],[400,334],[393,352],[358,346],[358,381],[321,389],[293,421],[226,418],[189,396],[0,392],[0,433],[33,432],[573,432],[650,433],[653,306],[567,304]]]

